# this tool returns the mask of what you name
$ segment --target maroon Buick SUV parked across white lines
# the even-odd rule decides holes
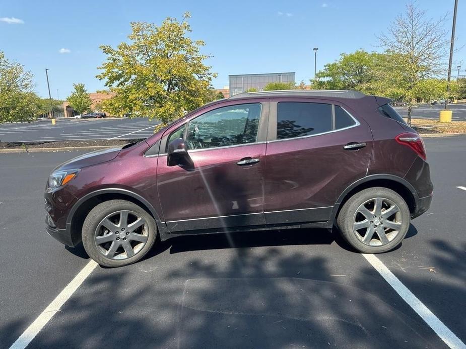
[[[157,234],[335,225],[359,251],[388,251],[433,189],[422,139],[389,103],[354,91],[210,103],[145,141],[58,166],[47,232],[82,240],[108,267],[141,259]]]

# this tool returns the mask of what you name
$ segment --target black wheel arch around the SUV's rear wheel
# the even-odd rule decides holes
[[[371,175],[354,182],[345,189],[334,205],[330,221],[335,222],[341,208],[349,198],[364,189],[372,187],[383,187],[393,190],[405,200],[412,216],[416,212],[416,190],[408,181],[394,175]]]

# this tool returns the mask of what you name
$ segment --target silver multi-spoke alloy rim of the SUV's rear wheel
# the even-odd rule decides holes
[[[366,245],[382,246],[395,238],[402,227],[400,208],[385,198],[363,203],[353,217],[353,231]]]

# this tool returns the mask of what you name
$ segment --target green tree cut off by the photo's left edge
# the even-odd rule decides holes
[[[0,51],[0,123],[29,121],[39,110],[32,73]]]

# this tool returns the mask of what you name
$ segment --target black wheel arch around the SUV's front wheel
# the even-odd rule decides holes
[[[154,207],[141,195],[121,188],[106,188],[100,189],[78,200],[73,206],[66,219],[66,225],[69,226],[73,244],[76,246],[81,241],[81,231],[84,219],[89,212],[98,204],[114,199],[127,200],[141,206],[147,211],[155,220],[159,233],[166,233],[165,223],[162,222],[155,211]]]

